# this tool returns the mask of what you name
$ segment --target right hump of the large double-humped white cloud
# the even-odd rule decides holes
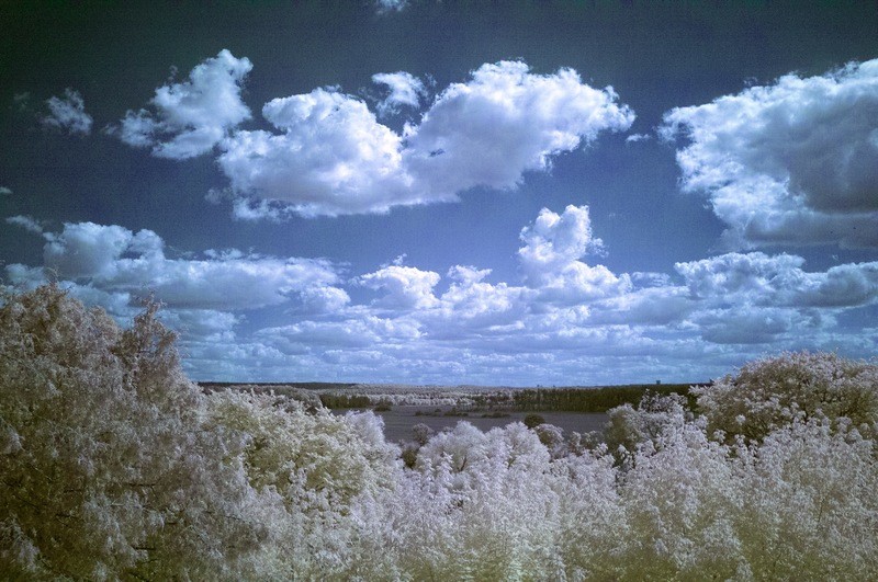
[[[521,61],[482,65],[407,128],[407,167],[437,193],[511,189],[553,156],[628,129],[634,114],[616,101],[612,88],[593,89],[573,69],[534,75]]]

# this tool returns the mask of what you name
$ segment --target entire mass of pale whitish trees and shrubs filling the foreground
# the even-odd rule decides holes
[[[0,572],[94,580],[878,579],[878,365],[793,352],[601,438],[202,390],[148,305],[0,306]]]

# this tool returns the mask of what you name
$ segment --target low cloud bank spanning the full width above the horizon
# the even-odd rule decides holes
[[[614,273],[586,260],[601,247],[585,206],[544,208],[522,228],[519,282],[492,282],[489,269],[472,265],[441,275],[402,258],[350,275],[326,260],[236,250],[171,259],[150,230],[8,222],[45,241],[42,266],[7,266],[11,283],[43,283],[48,269],[122,318],[154,293],[200,378],[702,380],[768,346],[854,355],[878,347],[878,335],[841,323],[875,306],[876,262],[812,272],[800,256],[750,252],[677,263],[675,275]],[[270,322],[249,321],[267,308]]]

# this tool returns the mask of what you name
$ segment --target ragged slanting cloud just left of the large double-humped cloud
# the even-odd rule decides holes
[[[111,133],[131,146],[151,148],[160,158],[183,160],[206,153],[250,118],[240,99],[250,69],[249,59],[223,49],[192,69],[189,80],[156,89],[148,109],[128,111]]]

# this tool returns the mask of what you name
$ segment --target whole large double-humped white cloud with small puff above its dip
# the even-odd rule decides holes
[[[384,107],[419,103],[410,75],[376,78],[391,89]],[[617,99],[572,69],[534,75],[502,61],[448,87],[401,135],[361,100],[322,88],[267,103],[262,116],[277,132],[235,133],[218,163],[238,195],[281,201],[304,216],[384,213],[454,201],[476,186],[515,187],[554,156],[627,129],[634,115]]]

